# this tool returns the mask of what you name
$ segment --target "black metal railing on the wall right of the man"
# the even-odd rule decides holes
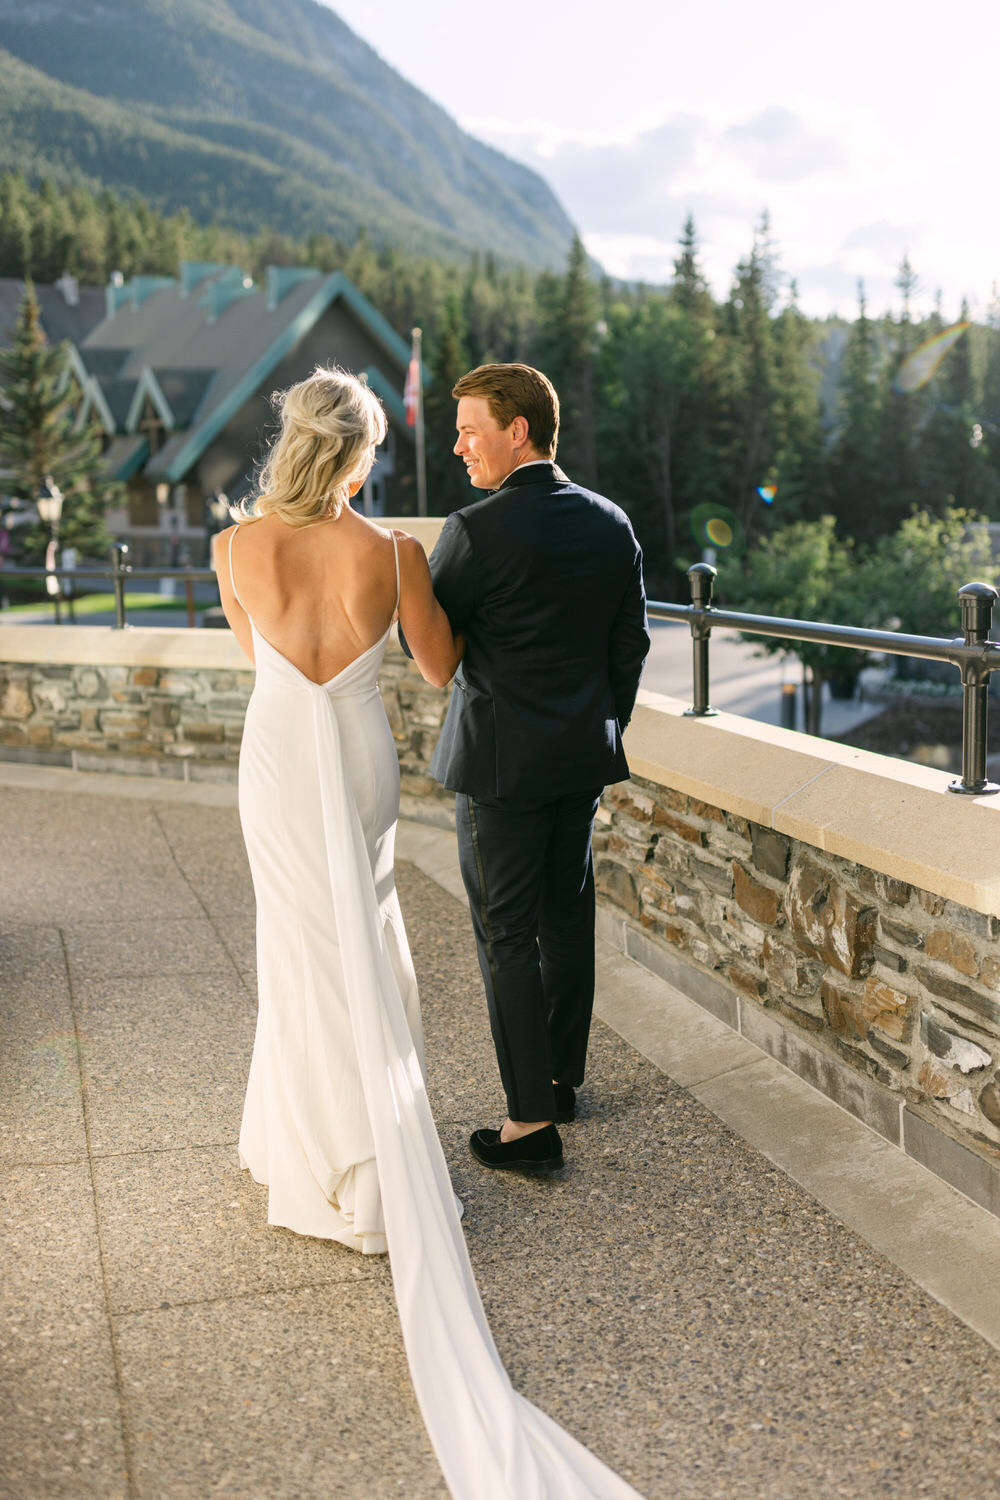
[[[856,651],[885,651],[892,656],[915,656],[930,662],[951,662],[963,682],[963,774],[949,783],[949,792],[982,796],[1000,792],[1000,784],[987,778],[987,714],[990,706],[990,674],[1000,670],[1000,642],[990,640],[993,609],[1000,597],[990,584],[966,584],[958,590],[961,602],[961,638],[943,640],[937,636],[904,636],[895,630],[856,630],[853,626],[825,626],[813,620],[780,620],[775,615],[744,615],[735,609],[715,609],[712,586],[715,568],[696,562],[688,568],[691,579],[690,604],[663,604],[651,600],[648,610],[654,620],[678,620],[691,627],[694,651],[694,704],[687,712],[708,717],[718,710],[711,705],[709,638],[717,626],[742,630],[750,636],[783,636],[789,640],[814,640],[820,645],[850,646]]]

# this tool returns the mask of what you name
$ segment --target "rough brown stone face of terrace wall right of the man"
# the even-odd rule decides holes
[[[604,807],[606,906],[1000,1161],[997,916],[639,777]]]

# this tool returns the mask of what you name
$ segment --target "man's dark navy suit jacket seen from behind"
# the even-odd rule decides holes
[[[525,465],[448,516],[430,574],[466,638],[436,780],[480,800],[624,782],[622,730],[649,651],[625,512],[555,464]]]

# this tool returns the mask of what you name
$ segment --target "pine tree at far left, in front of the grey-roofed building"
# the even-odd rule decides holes
[[[7,494],[34,504],[51,477],[64,496],[61,544],[85,556],[102,556],[111,544],[103,513],[120,501],[121,486],[102,471],[97,423],[79,430],[73,428],[78,392],[66,380],[66,350],[49,346],[30,282],[13,342],[0,350],[0,393],[6,408],[0,426],[0,466],[9,476],[4,480]],[[43,556],[45,528],[21,526],[16,537],[27,561]]]

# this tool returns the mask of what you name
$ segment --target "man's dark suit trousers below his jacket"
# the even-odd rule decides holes
[[[456,798],[459,862],[514,1120],[552,1119],[552,1082],[583,1082],[600,795],[598,788],[546,800]]]

